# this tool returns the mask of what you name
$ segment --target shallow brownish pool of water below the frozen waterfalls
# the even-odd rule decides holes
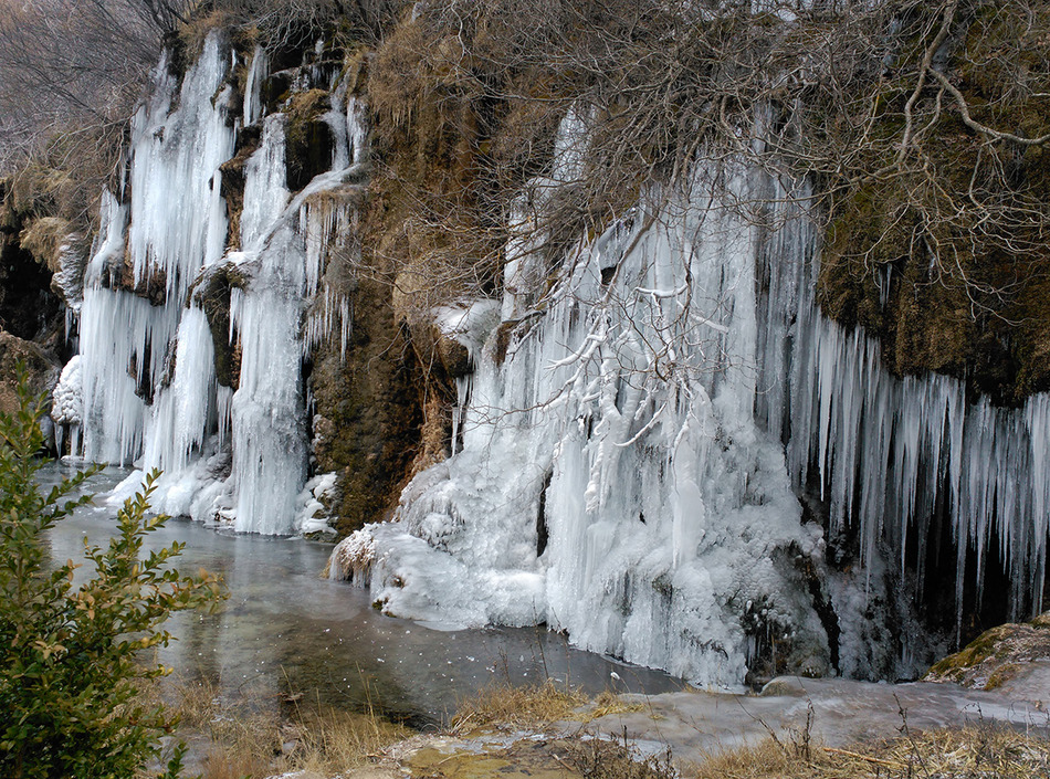
[[[49,464],[40,482],[49,486],[74,472]],[[104,493],[127,473],[107,469],[90,488]],[[83,559],[84,538],[104,544],[114,514],[96,498],[61,522],[50,533],[55,559]],[[550,676],[590,693],[683,686],[666,674],[574,650],[542,628],[445,632],[386,617],[371,608],[366,590],[321,578],[328,544],[237,535],[172,518],[148,537],[146,548],[176,540],[186,544],[177,566],[219,573],[230,598],[214,614],[176,614],[168,629],[177,640],[159,659],[178,678],[218,683],[228,698],[276,706],[303,694],[421,724],[447,718],[459,699],[493,681],[538,683]]]

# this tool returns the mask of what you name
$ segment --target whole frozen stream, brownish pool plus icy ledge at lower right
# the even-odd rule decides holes
[[[41,482],[52,484],[63,472],[72,469],[48,465]],[[109,469],[91,487],[105,492],[125,475]],[[113,512],[96,503],[52,531],[56,559],[80,558],[84,537],[103,544],[111,535]],[[385,617],[371,608],[367,591],[319,578],[326,544],[170,519],[149,546],[174,540],[186,543],[180,566],[222,575],[230,599],[216,614],[177,614],[169,623],[177,641],[160,659],[175,667],[176,678],[218,682],[225,697],[252,705],[277,706],[288,693],[302,693],[347,708],[370,703],[396,719],[424,725],[444,719],[459,698],[493,678],[527,683],[549,675],[591,693],[610,686],[644,693],[644,712],[611,715],[596,727],[626,733],[655,751],[670,744],[680,757],[696,759],[720,746],[758,740],[767,727],[801,727],[810,707],[817,735],[829,744],[896,735],[900,708],[921,729],[998,722],[1044,733],[1050,726],[1047,661],[991,693],[834,678],[780,680],[757,697],[684,691],[663,673],[569,649],[543,629],[442,632]]]

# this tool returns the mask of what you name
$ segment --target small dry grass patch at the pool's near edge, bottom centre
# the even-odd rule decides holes
[[[452,720],[452,733],[462,734],[483,725],[537,727],[568,718],[588,702],[576,687],[547,680],[523,687],[491,684],[473,698],[460,704]]]

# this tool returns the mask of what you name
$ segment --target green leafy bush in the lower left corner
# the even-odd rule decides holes
[[[181,544],[143,552],[166,519],[147,516],[155,473],[107,546],[85,541],[94,575],[75,587],[76,566],[52,565],[44,533],[88,499],[69,498],[92,471],[40,493],[43,402],[19,394],[18,413],[0,414],[0,776],[132,777],[175,724],[140,694],[167,673],[143,650],[168,643],[171,613],[216,603],[219,581],[171,568]]]

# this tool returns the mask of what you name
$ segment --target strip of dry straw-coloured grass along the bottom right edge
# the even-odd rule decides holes
[[[990,726],[852,749],[769,739],[682,771],[691,779],[1029,779],[1050,777],[1050,741]]]

